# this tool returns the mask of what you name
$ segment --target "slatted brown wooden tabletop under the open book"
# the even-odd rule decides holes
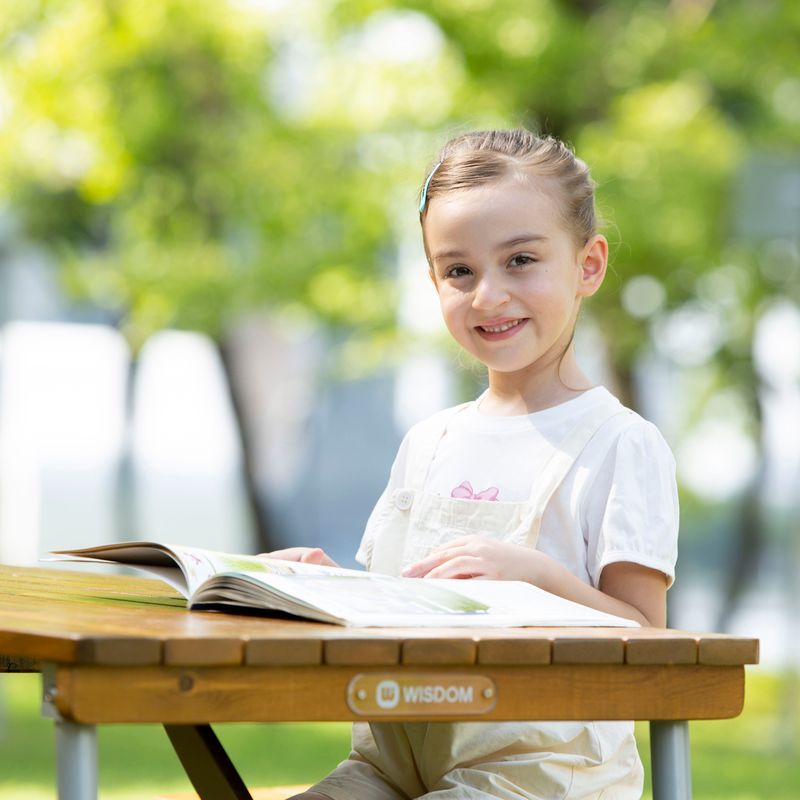
[[[655,628],[368,628],[190,612],[148,578],[0,566],[0,670],[109,666],[737,666],[758,640]],[[16,665],[16,667],[15,667]]]

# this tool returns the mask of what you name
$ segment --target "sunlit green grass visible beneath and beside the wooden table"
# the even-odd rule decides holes
[[[800,721],[792,684],[751,670],[742,716],[691,724],[695,800],[797,800]],[[53,800],[53,726],[39,716],[36,675],[0,676],[0,797]],[[795,686],[796,691],[796,686]],[[784,713],[780,713],[783,709]],[[225,748],[250,786],[313,782],[343,758],[343,723],[218,725]],[[637,725],[649,774],[647,724]],[[99,728],[101,800],[148,800],[190,789],[166,734],[156,725]],[[651,797],[649,787],[645,798]]]

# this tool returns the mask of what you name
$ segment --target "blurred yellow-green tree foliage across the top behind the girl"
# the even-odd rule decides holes
[[[587,312],[624,399],[656,353],[695,373],[686,428],[732,386],[760,440],[750,342],[800,301],[797,235],[754,246],[732,198],[754,149],[800,145],[792,0],[39,0],[0,26],[0,192],[134,347],[289,302],[386,330],[434,143],[526,124],[599,181],[614,274]]]

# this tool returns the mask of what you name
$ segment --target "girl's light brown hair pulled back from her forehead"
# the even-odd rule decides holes
[[[511,175],[535,175],[553,181],[564,227],[579,246],[597,233],[595,182],[589,168],[563,142],[552,136],[536,136],[524,128],[474,131],[451,139],[442,148],[420,193],[420,221],[431,198]]]

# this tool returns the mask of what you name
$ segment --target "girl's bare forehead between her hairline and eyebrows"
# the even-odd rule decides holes
[[[423,221],[431,250],[459,240],[504,241],[509,233],[567,236],[557,187],[547,178],[511,175],[431,198]]]

